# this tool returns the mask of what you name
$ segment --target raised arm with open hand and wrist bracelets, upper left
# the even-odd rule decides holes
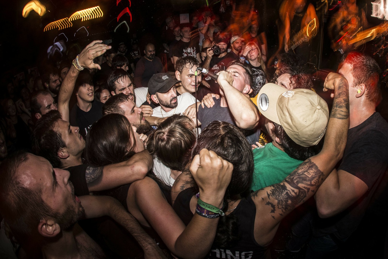
[[[106,52],[107,49],[110,49],[111,46],[106,44],[101,44],[102,40],[95,40],[85,47],[78,55],[78,64],[83,68],[98,68],[101,69],[99,64],[93,63],[95,57],[98,57]],[[75,60],[75,59],[74,59]],[[73,63],[76,61],[73,61]],[[75,81],[77,80],[78,70],[75,66],[71,66],[68,73],[66,74],[61,88],[59,89],[58,94],[58,111],[62,115],[62,119],[69,121],[69,101],[71,94],[73,94],[73,89]]]

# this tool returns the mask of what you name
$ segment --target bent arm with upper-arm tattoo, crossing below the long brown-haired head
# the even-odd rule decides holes
[[[89,191],[102,191],[143,179],[152,167],[152,156],[147,149],[130,159],[104,167],[89,166],[86,182]]]

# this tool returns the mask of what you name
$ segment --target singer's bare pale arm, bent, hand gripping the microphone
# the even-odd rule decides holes
[[[251,87],[248,85],[243,92],[232,86],[233,78],[244,77],[239,73],[218,72],[218,84],[222,89],[230,112],[232,113],[237,127],[241,129],[253,129],[259,123],[259,111],[255,104],[244,94],[247,94]]]

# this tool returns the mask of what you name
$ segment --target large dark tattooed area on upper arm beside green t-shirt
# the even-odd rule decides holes
[[[285,183],[272,185],[267,191],[268,200],[265,205],[271,207],[270,213],[287,213],[297,207],[300,203],[310,198],[312,193],[319,187],[323,179],[323,173],[314,162],[308,159],[295,169],[286,179]],[[253,196],[253,195],[252,195]],[[257,196],[257,193],[256,193]],[[277,204],[277,209],[274,203]],[[282,215],[281,215],[282,216]]]

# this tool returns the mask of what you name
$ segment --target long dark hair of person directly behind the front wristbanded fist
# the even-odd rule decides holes
[[[224,211],[228,210],[228,200],[236,195],[246,195],[250,191],[253,177],[253,153],[244,134],[227,122],[211,122],[197,140],[192,150],[192,158],[201,149],[214,151],[218,156],[233,164],[232,179],[224,196]],[[239,236],[236,217],[232,214],[221,217],[217,226],[215,244],[230,247]]]

